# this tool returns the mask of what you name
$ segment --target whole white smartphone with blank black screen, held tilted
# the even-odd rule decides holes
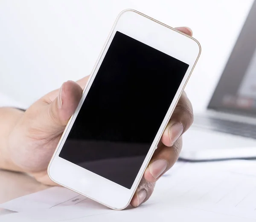
[[[200,53],[194,38],[121,12],[49,163],[50,179],[126,208]]]

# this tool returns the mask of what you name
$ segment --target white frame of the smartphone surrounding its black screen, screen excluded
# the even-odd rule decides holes
[[[157,132],[157,135],[151,144],[148,154],[143,161],[142,167],[140,168],[131,189],[118,185],[58,156],[73,126],[76,116],[79,113],[84,99],[90,90],[90,86],[93,83],[93,80],[99,70],[106,52],[108,51],[108,47],[110,46],[116,31],[122,32],[125,35],[128,35],[189,64],[189,68],[183,78],[183,81],[176,92],[175,98],[173,99],[172,104],[169,107],[169,110],[166,113],[166,116]],[[132,196],[134,195],[139,182],[142,179],[143,173],[154,153],[154,150],[157,148],[157,144],[160,141],[163,131],[168,124],[172,112],[177,105],[177,101],[180,98],[180,95],[189,79],[189,76],[191,75],[192,70],[194,69],[196,62],[198,61],[200,54],[201,46],[194,38],[135,10],[127,9],[122,11],[117,17],[99,59],[93,68],[87,85],[83,90],[81,101],[79,102],[75,113],[70,118],[55,153],[52,156],[48,166],[48,175],[50,179],[64,187],[69,188],[70,190],[106,205],[109,208],[115,210],[122,210],[126,208],[131,202]]]

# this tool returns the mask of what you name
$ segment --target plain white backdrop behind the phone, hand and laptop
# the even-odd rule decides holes
[[[253,0],[0,0],[0,91],[29,106],[89,75],[123,9],[189,26],[202,46],[186,92],[203,110]],[[168,47],[168,46],[166,46]],[[170,86],[171,87],[171,86]]]

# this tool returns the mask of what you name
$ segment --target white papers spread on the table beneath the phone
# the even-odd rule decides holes
[[[255,169],[255,173],[252,169]],[[0,205],[0,221],[256,221],[256,162],[178,163],[140,208],[114,211],[61,187]]]

